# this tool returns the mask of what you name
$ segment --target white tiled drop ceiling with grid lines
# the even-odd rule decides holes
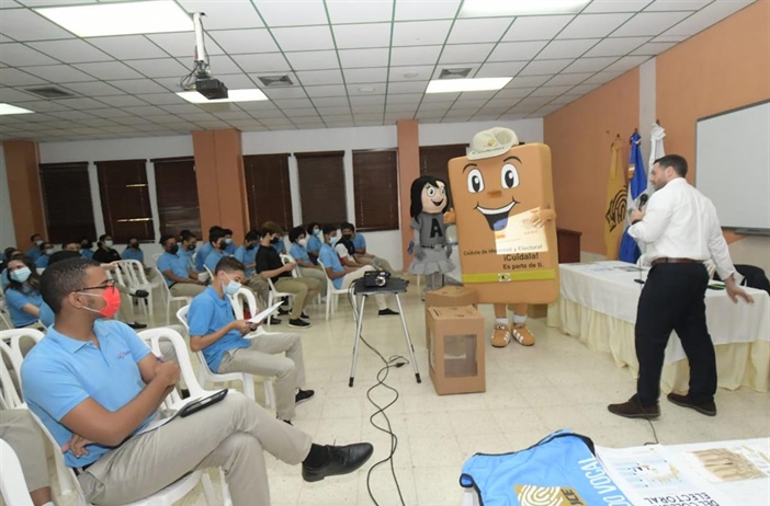
[[[0,139],[543,117],[754,0],[592,0],[577,15],[519,18],[464,18],[462,0],[177,0],[206,13],[213,76],[270,97],[204,106],[174,94],[193,33],[79,38],[32,10],[98,1],[0,0],[0,102],[35,111],[0,116]],[[513,80],[499,92],[424,94],[458,67]],[[295,84],[258,79],[275,74]],[[76,96],[25,91],[52,84]]]

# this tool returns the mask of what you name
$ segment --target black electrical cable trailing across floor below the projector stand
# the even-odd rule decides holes
[[[353,314],[356,315],[356,322],[358,318],[362,318],[360,314],[358,314],[358,308],[354,302],[355,295],[353,294],[353,285],[348,288],[348,301],[350,302],[350,306],[353,310]],[[372,413],[372,416],[369,417],[369,423],[372,424],[374,428],[377,430],[381,430],[388,436],[390,436],[390,452],[388,453],[387,457],[384,459],[375,462],[370,469],[369,472],[366,473],[366,491],[369,492],[369,496],[372,499],[372,502],[375,504],[375,506],[380,506],[380,503],[377,503],[377,499],[374,497],[374,493],[372,492],[372,472],[381,464],[384,464],[386,462],[389,462],[390,464],[390,474],[393,475],[393,481],[396,484],[396,491],[398,492],[398,498],[400,501],[401,506],[406,506],[406,503],[404,502],[404,495],[401,494],[401,487],[398,484],[398,476],[396,476],[396,469],[393,463],[393,456],[396,453],[396,448],[398,448],[398,436],[396,433],[393,432],[393,427],[390,425],[390,419],[387,417],[387,413],[385,413],[385,410],[390,407],[398,401],[398,390],[395,388],[390,387],[385,382],[387,379],[387,376],[389,373],[389,370],[392,367],[404,367],[405,365],[409,364],[409,360],[406,359],[406,357],[403,357],[400,355],[392,355],[387,359],[383,356],[383,354],[380,353],[374,346],[369,344],[366,340],[364,340],[363,335],[360,336],[361,342],[366,345],[367,348],[370,348],[372,352],[374,352],[380,359],[383,361],[384,366],[377,371],[376,379],[377,382],[373,384],[369,390],[366,390],[366,399],[369,399],[369,402],[371,402],[374,407],[377,409],[374,413]],[[392,392],[395,393],[395,398],[387,403],[386,405],[382,406],[377,404],[374,399],[372,399],[372,391],[376,389],[377,387],[384,387],[387,390],[390,390]],[[386,426],[381,427],[374,422],[375,416],[382,415],[382,417],[385,419]]]

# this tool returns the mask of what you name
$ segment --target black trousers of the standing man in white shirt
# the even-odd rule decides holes
[[[666,344],[677,331],[690,361],[690,398],[711,402],[716,392],[716,356],[705,321],[709,274],[703,264],[659,264],[649,269],[636,312],[638,402],[652,405],[660,396]]]

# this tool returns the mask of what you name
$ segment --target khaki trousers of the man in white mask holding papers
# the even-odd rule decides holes
[[[286,356],[279,354],[285,353]],[[305,359],[297,334],[258,333],[248,348],[225,353],[217,372],[275,377],[275,411],[281,419],[295,416],[295,390],[305,384]]]

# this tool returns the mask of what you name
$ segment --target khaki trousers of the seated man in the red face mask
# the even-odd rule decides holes
[[[264,451],[297,464],[310,436],[239,392],[156,430],[129,438],[78,476],[89,502],[121,505],[147,497],[197,469],[220,467],[234,506],[269,506]]]

